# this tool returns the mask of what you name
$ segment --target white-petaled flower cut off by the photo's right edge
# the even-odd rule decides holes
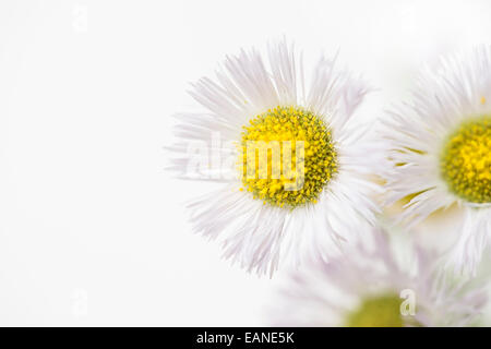
[[[448,261],[475,273],[491,233],[491,49],[426,69],[412,97],[386,122],[388,204],[410,198],[399,216],[409,226],[455,204],[463,219]]]

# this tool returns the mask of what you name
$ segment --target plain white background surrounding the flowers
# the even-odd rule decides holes
[[[276,282],[193,236],[163,147],[189,83],[286,35],[380,89],[491,43],[489,1],[1,1],[0,325],[266,325]]]

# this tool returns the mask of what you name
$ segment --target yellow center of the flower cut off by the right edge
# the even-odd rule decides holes
[[[441,157],[442,177],[457,196],[471,203],[491,203],[491,117],[464,122]]]

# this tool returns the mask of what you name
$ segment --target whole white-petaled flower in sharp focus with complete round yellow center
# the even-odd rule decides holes
[[[308,82],[286,41],[268,47],[268,64],[255,49],[227,57],[215,81],[193,85],[202,109],[177,116],[170,148],[178,177],[221,183],[189,205],[193,230],[259,274],[356,240],[379,209],[376,146],[355,117],[368,91],[325,58]]]

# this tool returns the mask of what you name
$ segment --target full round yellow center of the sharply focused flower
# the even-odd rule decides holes
[[[336,172],[330,129],[298,107],[276,107],[254,117],[243,127],[240,149],[243,188],[273,206],[316,203]]]

